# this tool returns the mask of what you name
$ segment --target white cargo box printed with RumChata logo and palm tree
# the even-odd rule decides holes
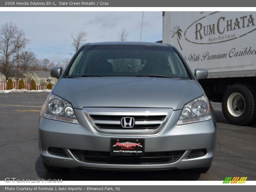
[[[208,78],[255,76],[256,12],[165,12],[163,43]],[[180,35],[177,34],[180,32]]]

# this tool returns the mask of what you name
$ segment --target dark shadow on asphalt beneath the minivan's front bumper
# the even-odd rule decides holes
[[[198,180],[200,173],[187,170],[164,171],[101,171],[87,169],[67,169],[59,172],[48,172],[39,156],[35,169],[39,178],[62,180]]]

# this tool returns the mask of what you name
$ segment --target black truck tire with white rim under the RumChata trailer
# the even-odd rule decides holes
[[[256,118],[256,93],[250,85],[233,84],[222,97],[222,112],[229,123],[248,125]]]

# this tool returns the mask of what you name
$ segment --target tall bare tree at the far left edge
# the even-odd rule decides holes
[[[25,47],[27,43],[23,30],[17,28],[12,22],[4,23],[0,28],[0,70],[6,80],[10,71],[18,59],[17,51]]]

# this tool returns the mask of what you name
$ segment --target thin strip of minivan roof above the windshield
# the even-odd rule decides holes
[[[98,42],[98,43],[87,43],[84,45],[151,45],[151,46],[164,46],[173,47],[170,44],[163,43],[152,43],[152,42],[135,42],[135,41],[111,41],[111,42]]]

